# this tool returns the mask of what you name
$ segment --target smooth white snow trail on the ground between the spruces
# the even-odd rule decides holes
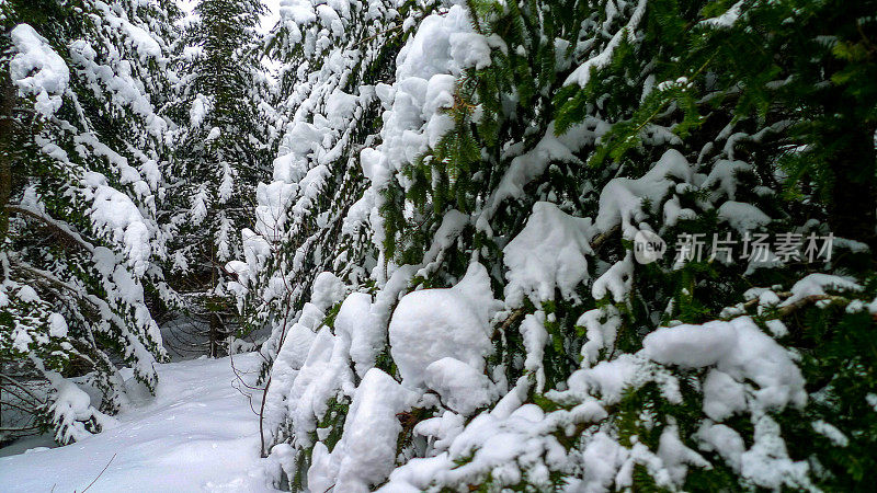
[[[239,371],[258,364],[255,353],[235,356]],[[89,492],[274,491],[259,463],[258,416],[232,387],[239,382],[229,358],[156,367],[157,394],[116,416],[117,427],[66,447],[0,458],[0,490],[81,492],[100,474]],[[244,376],[248,383],[253,376]],[[259,392],[253,406],[258,399]]]

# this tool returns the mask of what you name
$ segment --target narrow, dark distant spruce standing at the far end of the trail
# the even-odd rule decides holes
[[[172,270],[185,308],[204,322],[212,356],[236,331],[224,264],[240,256],[255,185],[270,175],[259,0],[203,0],[182,22],[169,221]]]

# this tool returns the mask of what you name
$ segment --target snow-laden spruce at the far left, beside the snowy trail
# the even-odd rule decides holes
[[[119,364],[152,390],[164,357],[147,301],[172,297],[159,267],[168,124],[157,108],[175,12],[127,0],[0,4],[2,410],[15,404],[59,443],[126,405]]]

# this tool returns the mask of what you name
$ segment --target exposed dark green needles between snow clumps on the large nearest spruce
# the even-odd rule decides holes
[[[642,176],[669,148],[679,150],[704,179],[722,162],[745,161],[751,168],[733,173],[738,183],[734,196],[722,196],[727,194],[721,186],[698,192],[669,188],[669,195],[677,195],[680,207],[691,209],[693,217],[667,221],[667,196],[643,204],[646,217],[636,221],[657,226],[670,240],[670,249],[654,264],[636,265],[629,299],[593,300],[583,287],[581,300],[558,297],[539,307],[553,316],[544,323],[549,335],[543,360],[546,390],[579,368],[579,352],[586,337],[576,320],[589,309],[613,305],[622,318],[614,352],[602,352],[601,360],[636,353],[643,337],[659,325],[704,323],[741,313],[755,316],[760,323],[782,319],[791,333],[781,342],[802,354],[808,390],[828,389],[822,393],[831,399],[813,399],[804,411],[786,410],[773,417],[781,424],[793,459],[811,462],[818,486],[855,489],[863,471],[873,467],[867,447],[874,440],[877,414],[865,398],[875,392],[869,363],[877,360],[873,316],[866,310],[843,314],[850,299],[802,312],[766,308],[756,313],[751,302],[740,311],[726,309],[743,302],[743,294],[752,287],[788,289],[812,272],[853,275],[862,282],[873,275],[873,256],[863,259],[867,254],[846,255],[836,250],[840,256],[832,263],[789,262],[755,270],[743,261],[724,263],[706,255],[675,266],[676,248],[671,239],[704,234],[708,249],[714,233],[719,238],[738,236],[740,231],[718,211],[718,198],[725,198],[756,206],[773,218],[760,229],[766,233],[796,231],[806,237],[830,230],[874,244],[877,22],[873,12],[877,4],[743,1],[736,22],[704,22],[725,14],[736,3],[652,0],[629,32],[624,31],[635,7],[629,4],[612,18],[608,7],[614,11],[617,2],[467,2],[476,31],[498,36],[503,48],[492,50],[490,67],[469,69],[458,78],[454,104],[446,108],[454,128],[405,165],[402,175],[411,186],[402,191],[394,182],[385,188],[387,202],[380,210],[384,249],[396,264],[421,262],[421,252],[429,248],[444,215],[452,209],[476,217],[482,213],[480,207],[497,190],[511,160],[533,149],[550,131],[550,122],[558,136],[589,122],[602,130],[596,141],[577,152],[580,163],[551,162],[544,175],[525,186],[517,203],[498,208],[489,234],[481,230],[460,234],[457,249],[448,252],[445,263],[429,278],[415,278],[414,285],[446,286],[465,271],[465,259],[474,252],[480,253],[478,261],[489,271],[496,266],[493,272],[501,273],[501,248],[521,231],[534,202],[554,202],[573,216],[593,218],[600,211],[600,193],[610,180]],[[620,42],[607,55],[606,64],[592,69],[584,87],[565,83],[580,64],[601,56],[616,33],[622,33]],[[565,62],[565,57],[571,62]],[[405,218],[405,206],[417,210],[415,220]],[[817,226],[824,222],[828,228]],[[628,239],[618,241],[617,232],[610,238],[594,265],[589,265],[593,278],[631,249]],[[739,244],[733,253],[738,259],[742,254]],[[496,274],[493,283],[494,287],[503,285]],[[855,298],[866,302],[874,296],[868,291]],[[504,322],[494,324],[488,375],[501,370],[510,382],[523,375],[525,348],[520,324],[523,317],[536,311],[527,300]],[[806,322],[789,321],[805,313]],[[628,389],[611,410],[607,423],[623,445],[633,445],[636,436],[654,451],[672,420],[683,443],[697,450],[695,435],[704,422],[703,371],[663,367],[656,371],[679,379],[682,401],[670,402],[650,381]],[[529,377],[535,381],[535,376]],[[569,408],[537,391],[531,391],[529,400],[546,412]],[[643,413],[652,420],[648,426]],[[838,447],[816,434],[812,422],[820,419],[840,423],[851,445]],[[732,416],[725,424],[737,431],[748,447],[752,445],[749,416]],[[580,444],[567,440],[565,446]],[[690,467],[684,490],[752,488],[719,455],[703,456],[710,467]],[[460,460],[458,466],[471,458]],[[824,474],[818,472],[823,469]],[[639,463],[634,467],[633,482],[636,491],[664,491]],[[466,486],[489,491],[493,484],[488,475]]]

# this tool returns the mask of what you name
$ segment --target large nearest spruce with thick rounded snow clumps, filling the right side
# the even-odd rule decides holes
[[[346,4],[287,13],[328,36]],[[472,0],[403,21],[377,137],[322,158],[368,180],[316,219],[340,239],[272,236],[306,175],[280,159],[260,214],[287,222],[232,265],[244,308],[277,305],[270,460],[309,491],[863,486],[874,11]],[[670,251],[638,262],[653,234]],[[365,250],[297,310],[286,268],[342,242]]]

